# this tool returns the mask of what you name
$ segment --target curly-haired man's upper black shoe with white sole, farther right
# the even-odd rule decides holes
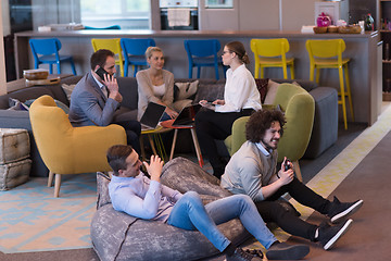
[[[335,197],[327,216],[330,217],[332,224],[342,222],[348,216],[354,214],[363,206],[363,203],[364,201],[362,199],[354,202],[341,203],[338,198]]]

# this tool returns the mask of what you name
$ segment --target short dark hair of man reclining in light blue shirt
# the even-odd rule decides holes
[[[109,148],[106,159],[115,176],[118,175],[119,170],[126,170],[126,158],[128,158],[133,148],[129,145],[114,145]]]

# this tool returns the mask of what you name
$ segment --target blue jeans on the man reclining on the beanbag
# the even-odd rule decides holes
[[[167,223],[187,231],[198,229],[223,252],[230,241],[216,225],[236,217],[266,249],[277,240],[247,195],[230,196],[204,207],[197,192],[186,192],[174,206]]]

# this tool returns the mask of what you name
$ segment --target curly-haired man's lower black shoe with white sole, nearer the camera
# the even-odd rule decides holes
[[[330,226],[326,222],[321,223],[319,226],[319,236],[317,239],[320,241],[324,249],[329,250],[336,244],[336,241],[346,233],[352,222],[353,220],[346,220],[344,223],[336,226]]]

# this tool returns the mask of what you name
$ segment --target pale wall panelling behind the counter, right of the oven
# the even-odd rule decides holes
[[[300,30],[314,24],[316,0],[234,0],[234,9],[204,9],[200,2],[200,28],[211,30]],[[281,7],[280,7],[281,3]]]

